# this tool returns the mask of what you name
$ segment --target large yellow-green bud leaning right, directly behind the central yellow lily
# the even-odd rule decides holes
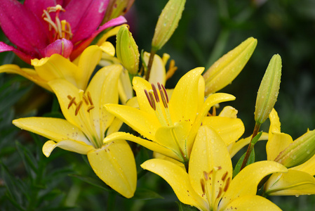
[[[205,95],[215,93],[230,84],[243,70],[257,46],[257,39],[250,37],[235,49],[222,56],[203,74]]]

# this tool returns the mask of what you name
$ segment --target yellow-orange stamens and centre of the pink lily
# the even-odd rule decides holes
[[[53,36],[50,37],[50,41],[53,42],[57,39],[72,39],[72,30],[70,24],[66,20],[60,20],[59,14],[60,11],[65,12],[65,9],[62,8],[59,4],[56,6],[49,6],[47,10],[43,10],[42,18],[48,23],[49,31],[54,30]],[[55,21],[51,19],[51,15],[49,13],[55,13]]]

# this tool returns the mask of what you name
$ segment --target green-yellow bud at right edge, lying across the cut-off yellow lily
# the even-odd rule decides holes
[[[315,130],[307,132],[293,141],[274,161],[285,167],[295,167],[306,162],[315,154]]]

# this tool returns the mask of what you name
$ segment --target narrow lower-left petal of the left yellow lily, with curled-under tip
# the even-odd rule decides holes
[[[43,154],[48,158],[56,147],[82,155],[86,155],[89,151],[93,151],[93,149],[95,149],[93,146],[87,145],[81,141],[63,140],[55,143],[55,141],[50,140],[43,144]]]

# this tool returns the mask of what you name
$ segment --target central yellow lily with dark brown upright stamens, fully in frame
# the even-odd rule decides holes
[[[107,104],[105,108],[146,139],[118,132],[104,139],[104,143],[127,139],[139,143],[149,150],[187,163],[194,137],[208,110],[217,103],[235,99],[230,94],[217,93],[204,101],[203,68],[196,68],[185,74],[177,83],[168,100],[163,85],[158,89],[141,77],[133,78],[139,108]]]

